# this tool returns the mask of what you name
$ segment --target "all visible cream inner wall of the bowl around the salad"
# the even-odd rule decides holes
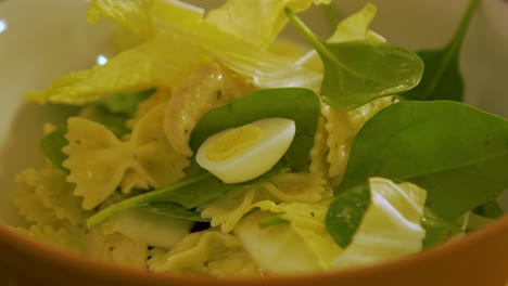
[[[0,1],[1,2],[1,1]],[[202,1],[194,1],[202,2]],[[223,1],[213,1],[223,2]],[[336,1],[341,15],[367,1]],[[466,0],[378,0],[373,29],[391,43],[410,49],[444,46],[452,37]],[[59,107],[23,104],[23,94],[45,88],[58,75],[86,68],[111,50],[107,25],[86,22],[86,1],[16,0],[0,3],[0,222],[21,220],[9,204],[15,173],[42,162],[38,139],[46,121],[65,117]],[[43,13],[41,13],[41,11]],[[48,16],[43,16],[47,13]],[[325,30],[315,10],[305,15],[313,27]],[[50,15],[50,16],[49,16]],[[508,117],[508,4],[486,0],[471,23],[461,53],[466,101]],[[3,27],[3,29],[1,28]],[[323,31],[325,32],[325,31]],[[297,37],[288,31],[289,37]],[[59,110],[59,112],[56,112]],[[508,192],[500,198],[508,211]]]

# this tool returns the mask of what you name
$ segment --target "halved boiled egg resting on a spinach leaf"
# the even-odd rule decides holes
[[[241,183],[269,171],[284,156],[296,127],[287,118],[266,118],[223,130],[203,142],[196,162],[225,183]]]

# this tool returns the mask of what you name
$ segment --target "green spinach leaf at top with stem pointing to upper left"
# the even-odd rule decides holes
[[[414,52],[372,40],[326,42],[293,12],[290,21],[316,49],[325,66],[322,100],[340,109],[359,107],[377,98],[406,92],[418,84],[423,62]]]

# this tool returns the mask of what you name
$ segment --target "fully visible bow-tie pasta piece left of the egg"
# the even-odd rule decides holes
[[[63,166],[71,171],[67,181],[76,184],[74,194],[84,198],[85,209],[97,207],[122,185],[128,193],[132,186],[161,187],[183,177],[189,161],[167,142],[163,117],[160,104],[137,122],[127,141],[94,121],[68,120],[68,145],[63,148],[68,158]]]

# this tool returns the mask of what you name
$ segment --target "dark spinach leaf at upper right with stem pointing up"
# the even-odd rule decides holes
[[[421,82],[405,96],[411,100],[462,101],[463,79],[459,68],[460,49],[480,0],[470,0],[452,40],[440,50],[418,51],[426,65]]]

